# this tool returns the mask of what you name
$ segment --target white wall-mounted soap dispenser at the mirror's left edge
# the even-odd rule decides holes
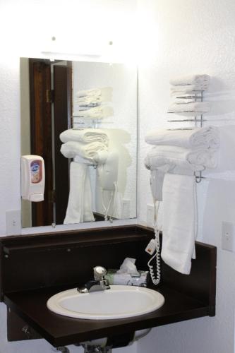
[[[38,155],[21,157],[21,196],[24,200],[44,200],[44,160]]]

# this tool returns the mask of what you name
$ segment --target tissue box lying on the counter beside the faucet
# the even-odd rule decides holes
[[[129,273],[116,273],[117,270],[108,270],[104,276],[110,285],[130,285],[138,287],[146,287],[148,271],[138,271],[139,275],[131,275]]]

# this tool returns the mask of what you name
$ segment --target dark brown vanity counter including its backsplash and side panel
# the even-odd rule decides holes
[[[162,263],[162,282],[156,289],[163,294],[165,303],[157,311],[104,321],[67,318],[49,311],[49,297],[90,280],[94,265],[119,268],[123,258],[134,257],[138,269],[147,269],[149,256],[144,249],[152,237],[151,229],[114,227],[106,235],[99,230],[96,237],[94,230],[90,232],[94,242],[84,231],[67,234],[67,239],[59,235],[46,237],[48,246],[42,236],[34,236],[31,243],[25,236],[22,243],[21,237],[0,239],[1,294],[8,306],[8,340],[17,337],[12,330],[15,315],[55,347],[215,316],[216,248],[202,243],[196,243],[197,258],[193,260],[191,275],[176,273]]]

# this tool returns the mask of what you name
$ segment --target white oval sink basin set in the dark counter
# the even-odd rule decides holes
[[[55,294],[47,301],[54,313],[71,318],[107,320],[130,318],[159,309],[164,297],[144,287],[111,285],[110,289],[80,293],[76,288]]]

